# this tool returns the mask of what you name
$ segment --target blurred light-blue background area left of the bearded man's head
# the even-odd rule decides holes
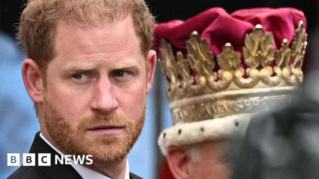
[[[28,153],[34,134],[40,130],[33,103],[24,87],[21,64],[24,60],[14,39],[0,32],[0,178],[18,166],[7,166],[7,153]],[[22,163],[22,161],[20,161]]]

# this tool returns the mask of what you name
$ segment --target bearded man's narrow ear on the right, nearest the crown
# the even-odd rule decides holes
[[[156,52],[154,50],[150,50],[147,55],[147,86],[146,86],[146,94],[148,94],[151,90],[153,78],[154,78],[154,71],[156,65]]]

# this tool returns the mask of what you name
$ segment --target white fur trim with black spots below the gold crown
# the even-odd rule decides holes
[[[245,134],[253,114],[233,115],[198,122],[179,123],[165,129],[158,139],[164,155],[169,146],[184,146],[205,140],[230,139]]]

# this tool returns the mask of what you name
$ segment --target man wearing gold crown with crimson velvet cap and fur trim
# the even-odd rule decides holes
[[[229,179],[251,116],[296,99],[305,23],[291,8],[212,8],[157,25],[173,123],[158,143],[175,179]]]

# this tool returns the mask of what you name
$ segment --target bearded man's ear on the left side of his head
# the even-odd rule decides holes
[[[43,83],[40,69],[32,59],[26,59],[22,63],[22,78],[26,91],[35,103],[43,102]]]

